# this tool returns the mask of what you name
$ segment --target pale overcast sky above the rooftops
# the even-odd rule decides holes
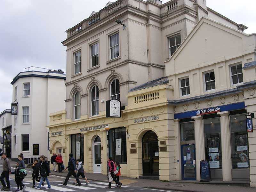
[[[11,108],[10,83],[24,68],[66,71],[66,47],[61,44],[66,39],[65,31],[107,3],[108,0],[0,0],[0,112]],[[207,0],[207,6],[249,27],[244,32],[256,32],[255,0]]]

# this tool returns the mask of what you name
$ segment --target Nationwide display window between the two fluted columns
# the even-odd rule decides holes
[[[210,169],[222,169],[220,118],[204,119],[205,155]]]

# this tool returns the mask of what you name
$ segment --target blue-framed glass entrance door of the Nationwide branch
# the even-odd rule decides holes
[[[181,145],[181,169],[183,180],[196,180],[195,144]]]

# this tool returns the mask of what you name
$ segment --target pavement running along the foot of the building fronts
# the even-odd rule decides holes
[[[0,164],[2,164],[3,160],[0,160]],[[11,161],[11,166],[15,167],[16,162]],[[2,166],[0,166],[1,169]],[[26,168],[27,171],[32,171],[30,168]],[[51,170],[51,177],[59,178],[60,180],[64,181],[67,171],[63,171],[62,173],[53,172]],[[88,180],[94,183],[94,185],[102,185],[103,183],[107,183],[107,176],[100,174],[100,173],[85,173],[85,176]],[[26,180],[26,178],[25,178]],[[49,179],[50,180],[50,179]],[[74,179],[73,179],[74,180]],[[81,180],[81,179],[80,179]],[[248,187],[248,181],[211,181],[211,182],[197,182],[197,181],[159,181],[159,180],[146,180],[146,179],[135,179],[129,177],[119,177],[120,182],[123,183],[126,187],[131,188],[123,188],[124,191],[140,191],[143,190],[144,192],[150,190],[156,191],[183,191],[183,192],[218,192],[218,191],[225,191],[225,192],[250,192],[256,191],[256,188]],[[96,184],[95,184],[96,183]],[[101,184],[100,184],[101,183]],[[114,184],[112,184],[114,185]],[[87,186],[86,186],[87,187]],[[89,187],[89,186],[88,186]],[[114,191],[120,191],[121,189],[116,189]],[[99,190],[97,190],[99,191]],[[102,188],[100,191],[103,191]],[[113,190],[107,190],[108,192],[114,192]],[[35,192],[35,191],[30,191]]]

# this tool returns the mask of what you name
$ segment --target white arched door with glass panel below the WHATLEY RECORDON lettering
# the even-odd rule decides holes
[[[96,136],[92,143],[93,173],[101,173],[101,142]]]

